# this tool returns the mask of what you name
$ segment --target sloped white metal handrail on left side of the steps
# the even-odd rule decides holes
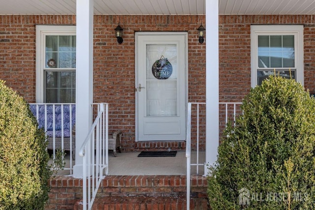
[[[83,157],[83,210],[92,209],[104,178],[103,170],[105,175],[108,174],[108,103],[97,104],[97,113],[79,150],[79,155]]]

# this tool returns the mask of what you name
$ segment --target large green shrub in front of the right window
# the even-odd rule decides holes
[[[214,210],[315,209],[315,99],[294,80],[270,76],[244,98],[210,167]]]

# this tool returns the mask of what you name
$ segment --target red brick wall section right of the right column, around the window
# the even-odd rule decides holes
[[[251,88],[251,25],[304,25],[304,85],[315,92],[314,15],[219,17],[220,101],[241,101]]]

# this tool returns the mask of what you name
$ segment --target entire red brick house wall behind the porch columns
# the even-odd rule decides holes
[[[94,22],[94,101],[110,104],[110,130],[122,130],[124,150],[139,147],[135,143],[134,122],[135,31],[188,32],[189,102],[205,102],[205,43],[198,43],[196,31],[200,23],[205,25],[205,16],[95,15]],[[114,36],[118,23],[124,28],[122,44]],[[35,25],[56,24],[75,25],[75,16],[0,16],[0,79],[6,80],[28,102],[35,102]],[[222,15],[219,17],[220,101],[241,101],[251,88],[251,24],[304,25],[305,87],[315,93],[314,15]],[[206,37],[205,41],[211,40]],[[201,111],[205,116],[204,110]],[[202,118],[200,149],[204,149],[204,124]]]

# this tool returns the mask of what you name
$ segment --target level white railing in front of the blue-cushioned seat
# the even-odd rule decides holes
[[[43,128],[47,136],[47,149],[53,151],[56,159],[56,150],[66,150],[69,155],[63,157],[69,162],[63,170],[72,174],[75,151],[75,104],[74,103],[31,103],[30,109],[35,116],[39,127]],[[66,160],[68,158],[68,160]],[[57,168],[51,168],[56,170]]]

